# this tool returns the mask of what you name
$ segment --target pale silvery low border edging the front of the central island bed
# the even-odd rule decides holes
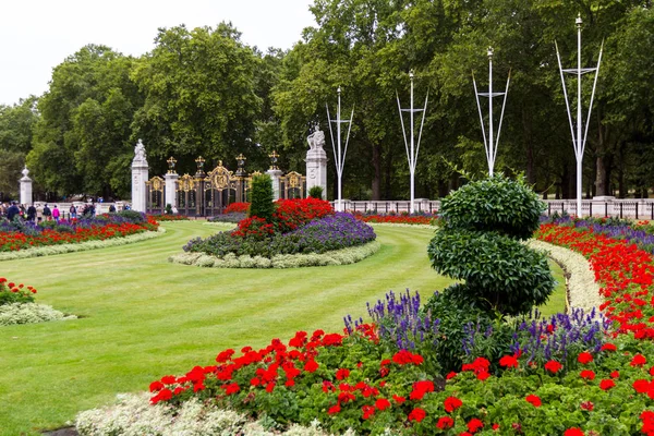
[[[272,258],[262,256],[210,256],[204,253],[181,253],[168,257],[168,262],[181,265],[193,265],[213,268],[301,268],[308,266],[350,265],[372,256],[382,249],[382,243],[372,241],[367,244],[334,250],[323,254],[278,254]]]

